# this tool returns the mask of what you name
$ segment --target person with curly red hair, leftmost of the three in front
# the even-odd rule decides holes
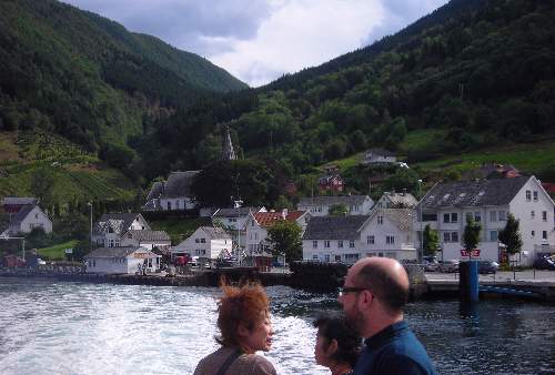
[[[258,284],[223,286],[218,303],[215,341],[221,347],[199,362],[194,375],[275,375],[274,366],[255,352],[270,351],[270,301]]]

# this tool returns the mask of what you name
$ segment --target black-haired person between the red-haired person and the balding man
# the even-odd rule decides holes
[[[332,375],[350,375],[359,358],[361,336],[346,323],[343,314],[322,315],[314,321],[317,328],[314,356]]]

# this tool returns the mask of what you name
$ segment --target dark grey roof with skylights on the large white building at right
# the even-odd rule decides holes
[[[531,178],[438,183],[424,196],[423,209],[508,204]]]

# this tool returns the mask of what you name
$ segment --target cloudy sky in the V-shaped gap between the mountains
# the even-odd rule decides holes
[[[62,0],[196,53],[251,87],[315,67],[447,0]]]

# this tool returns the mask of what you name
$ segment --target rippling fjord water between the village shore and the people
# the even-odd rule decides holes
[[[333,295],[269,287],[266,354],[279,374],[329,374],[312,321]],[[216,347],[218,288],[0,278],[1,374],[192,374]],[[555,308],[529,302],[410,304],[406,318],[438,374],[555,373]]]

